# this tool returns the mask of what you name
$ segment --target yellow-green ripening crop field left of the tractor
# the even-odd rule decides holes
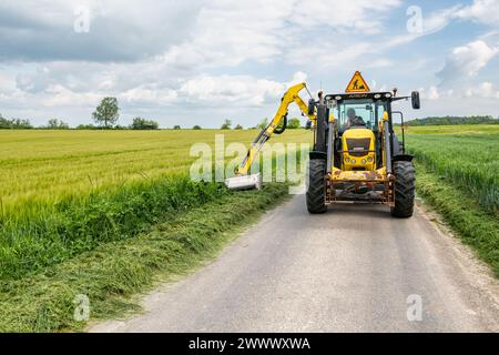
[[[189,173],[195,143],[248,145],[256,130],[0,131],[0,202],[3,213],[53,205],[90,190]],[[272,142],[309,142],[309,131],[288,130]]]

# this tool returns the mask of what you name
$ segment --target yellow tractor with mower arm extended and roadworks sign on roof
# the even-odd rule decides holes
[[[386,204],[396,217],[411,216],[416,180],[414,156],[405,152],[404,115],[393,111],[391,103],[411,99],[413,109],[417,110],[419,93],[397,97],[395,89],[370,92],[360,72],[354,74],[345,93],[325,95],[319,92],[318,100],[310,99],[308,105],[298,97],[303,88],[305,83],[295,85],[284,95],[276,116],[253,142],[236,170],[238,178],[228,180],[227,186],[257,184],[255,176],[247,175],[253,158],[283,120],[285,128],[287,105],[296,102],[309,118],[314,132],[306,192],[309,213],[324,213],[332,203],[354,201]],[[401,141],[394,132],[394,115],[400,116]],[[231,186],[231,182],[235,183]]]

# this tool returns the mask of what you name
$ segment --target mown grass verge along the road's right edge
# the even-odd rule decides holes
[[[477,251],[499,277],[499,220],[476,199],[448,182],[429,165],[416,163],[417,192],[437,210],[460,236]]]

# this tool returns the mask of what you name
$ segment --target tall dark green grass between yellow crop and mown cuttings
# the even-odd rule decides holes
[[[24,219],[4,219],[0,278],[19,278],[99,244],[138,235],[226,193],[221,184],[193,183],[185,175],[157,178],[62,200],[50,213],[40,209]]]

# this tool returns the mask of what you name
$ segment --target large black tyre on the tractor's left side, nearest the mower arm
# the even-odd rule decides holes
[[[326,161],[310,159],[308,162],[307,210],[309,213],[326,212]]]

